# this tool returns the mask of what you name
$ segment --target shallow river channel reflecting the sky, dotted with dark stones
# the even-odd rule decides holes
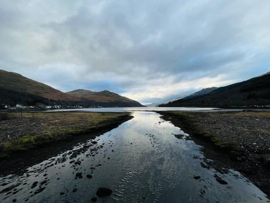
[[[202,168],[202,160],[194,158],[203,158],[200,146],[185,140],[188,135],[161,120],[159,114],[135,111],[132,115],[133,119],[96,137],[97,144],[91,145],[93,140],[80,143],[72,151],[28,168],[28,173],[21,177],[1,177],[0,191],[20,185],[12,190],[15,194],[0,193],[0,202],[12,199],[17,202],[90,202],[99,187],[108,187],[113,192],[106,198],[98,198],[98,202],[267,200],[263,192],[237,171],[222,175],[214,169]],[[174,134],[184,134],[184,138],[177,139]],[[73,152],[77,153],[76,157]],[[81,165],[69,163],[72,160],[81,161]],[[79,171],[83,177],[75,179]],[[89,179],[86,175],[91,172],[93,177]],[[228,185],[218,183],[214,174]],[[195,180],[194,175],[201,179]],[[31,188],[35,181],[38,181],[37,186]],[[5,183],[8,184],[3,186]],[[39,188],[44,190],[34,194]],[[72,192],[74,188],[76,192]],[[60,195],[60,192],[65,194]]]

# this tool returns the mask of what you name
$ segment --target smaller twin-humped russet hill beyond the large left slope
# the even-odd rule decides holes
[[[114,92],[110,92],[108,90],[103,90],[101,92],[93,92],[87,89],[75,89],[70,92],[66,92],[66,94],[76,97],[83,97],[92,103],[98,103],[103,106],[113,105],[113,106],[121,106],[121,107],[142,107],[139,102],[129,99],[127,97],[123,97]]]

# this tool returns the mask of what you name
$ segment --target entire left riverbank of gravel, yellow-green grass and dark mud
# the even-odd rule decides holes
[[[75,144],[94,139],[133,116],[126,113],[57,112],[9,114],[0,122],[0,173],[23,172]]]

